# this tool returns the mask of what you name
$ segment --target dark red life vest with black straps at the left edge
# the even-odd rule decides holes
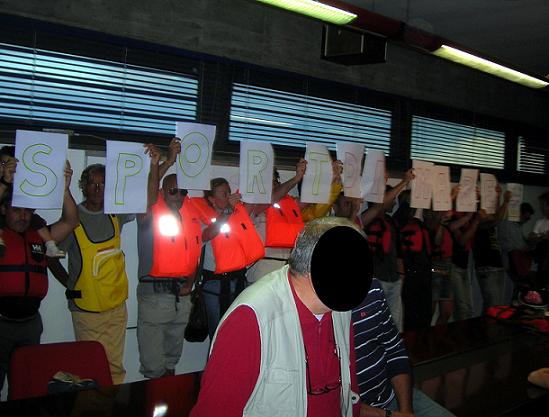
[[[20,234],[9,228],[3,235],[6,252],[0,258],[0,297],[35,297],[48,293],[44,241],[35,230]]]

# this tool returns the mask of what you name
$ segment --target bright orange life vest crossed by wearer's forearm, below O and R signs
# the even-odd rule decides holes
[[[200,213],[200,219],[206,225],[213,223],[217,212],[205,198],[192,198],[192,203]],[[215,273],[238,271],[265,256],[265,247],[255,230],[255,226],[242,204],[237,204],[227,218],[229,231],[220,232],[211,240],[215,258]]]

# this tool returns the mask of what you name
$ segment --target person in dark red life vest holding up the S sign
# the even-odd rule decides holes
[[[40,304],[48,292],[44,240],[33,230],[34,209],[13,206],[12,184],[16,161],[8,161],[0,181],[0,211],[5,216],[5,256],[0,258],[0,390],[4,383],[11,353],[24,345],[40,343],[42,319]],[[69,185],[72,170],[65,168],[63,212],[50,227],[54,239],[62,240],[78,224],[78,211]],[[61,284],[65,284],[61,280]]]

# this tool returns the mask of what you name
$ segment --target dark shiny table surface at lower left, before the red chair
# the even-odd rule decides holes
[[[196,402],[197,374],[0,402],[2,417],[185,417]]]

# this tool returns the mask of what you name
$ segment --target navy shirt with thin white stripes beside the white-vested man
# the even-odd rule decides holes
[[[360,398],[372,407],[384,408],[395,396],[391,378],[411,370],[408,353],[375,278],[352,317]]]

